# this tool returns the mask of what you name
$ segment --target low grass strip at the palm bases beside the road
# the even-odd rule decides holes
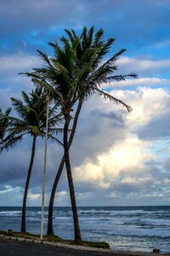
[[[16,236],[16,237],[32,239],[32,240],[40,240],[40,235],[34,235],[28,232],[22,233],[22,232],[14,232],[12,230],[7,232],[4,230],[0,230],[0,234],[6,235],[6,236]],[[59,236],[43,236],[43,241],[52,241],[52,242],[59,242],[63,244],[69,244],[69,245],[105,248],[105,249],[108,249],[110,247],[109,244],[105,241],[82,241],[81,243],[78,243],[73,240],[64,240]]]

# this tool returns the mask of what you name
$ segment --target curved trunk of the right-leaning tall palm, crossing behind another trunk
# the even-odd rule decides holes
[[[75,118],[74,118],[72,129],[71,129],[71,136],[69,138],[69,148],[71,147],[71,143],[73,141],[73,138],[74,138],[74,135],[75,135],[75,132],[77,129],[77,120],[78,120],[81,108],[82,108],[82,100],[80,100],[78,102],[77,112],[75,114]],[[53,189],[52,189],[51,195],[50,195],[50,200],[49,200],[49,205],[48,205],[48,231],[47,231],[48,236],[54,236],[54,229],[53,229],[54,197],[55,197],[55,192],[56,192],[56,189],[57,189],[57,186],[59,183],[59,178],[60,178],[61,172],[63,171],[64,165],[65,165],[65,155],[63,155],[62,160],[60,161],[59,169],[55,176]]]

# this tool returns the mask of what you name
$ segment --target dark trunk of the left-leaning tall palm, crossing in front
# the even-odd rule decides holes
[[[71,196],[71,208],[72,208],[73,222],[74,222],[75,241],[81,242],[82,237],[81,237],[80,226],[78,221],[77,202],[75,197],[74,184],[72,180],[71,162],[70,162],[70,155],[69,155],[68,129],[69,129],[70,119],[71,119],[71,116],[65,115],[64,137],[63,137],[64,150],[65,150],[65,167],[66,167],[66,173],[67,173],[70,196]]]

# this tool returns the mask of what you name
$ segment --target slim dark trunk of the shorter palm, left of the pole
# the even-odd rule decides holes
[[[25,185],[24,198],[23,198],[23,204],[22,204],[22,219],[21,219],[21,230],[20,230],[21,232],[26,232],[26,199],[27,199],[28,187],[29,187],[30,178],[31,178],[31,170],[34,162],[36,140],[37,140],[37,137],[34,136],[33,142],[32,142],[32,149],[31,149],[30,166],[28,168],[28,174],[26,177],[26,185]]]

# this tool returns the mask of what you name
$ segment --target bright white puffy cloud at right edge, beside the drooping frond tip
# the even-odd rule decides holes
[[[132,106],[133,112],[123,115],[132,130],[148,125],[154,119],[161,119],[169,111],[170,97],[167,90],[139,87],[136,90],[115,90],[114,96]]]

